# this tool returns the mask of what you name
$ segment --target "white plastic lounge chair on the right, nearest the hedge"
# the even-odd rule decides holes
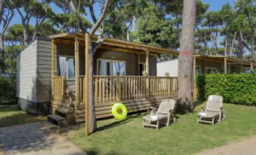
[[[198,114],[197,123],[211,123],[213,126],[215,119],[221,123],[221,119],[224,118],[222,102],[223,98],[221,96],[208,96],[206,108],[202,106],[202,110]]]

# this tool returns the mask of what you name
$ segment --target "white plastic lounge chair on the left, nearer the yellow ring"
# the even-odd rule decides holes
[[[151,114],[143,117],[142,126],[153,126],[156,129],[159,129],[160,120],[167,119],[166,126],[169,126],[170,120],[175,122],[174,117],[174,106],[175,100],[173,99],[164,99],[159,108],[152,108]],[[147,123],[146,123],[147,122]],[[155,124],[153,124],[155,123]]]

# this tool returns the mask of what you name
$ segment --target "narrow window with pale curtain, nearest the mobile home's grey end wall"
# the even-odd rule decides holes
[[[72,56],[59,56],[60,76],[66,76],[67,79],[75,78],[75,59]]]

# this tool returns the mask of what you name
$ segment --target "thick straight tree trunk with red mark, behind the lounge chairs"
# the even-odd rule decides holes
[[[178,72],[177,103],[181,111],[193,111],[192,74],[196,0],[184,0]]]

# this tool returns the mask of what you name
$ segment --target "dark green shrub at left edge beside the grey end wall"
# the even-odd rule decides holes
[[[0,102],[16,101],[16,77],[0,77]]]

